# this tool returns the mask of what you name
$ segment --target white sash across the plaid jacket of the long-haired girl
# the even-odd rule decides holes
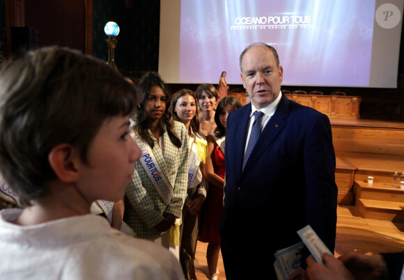
[[[171,183],[164,175],[157,158],[155,158],[153,149],[151,149],[150,145],[143,141],[136,132],[133,134],[133,140],[141,149],[142,156],[140,162],[143,169],[146,171],[150,181],[164,201],[164,204],[169,205],[173,197],[173,186],[171,186]]]

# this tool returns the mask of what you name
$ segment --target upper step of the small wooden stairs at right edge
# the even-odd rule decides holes
[[[355,180],[355,197],[358,199],[371,199],[375,201],[391,201],[404,205],[404,190],[395,188],[388,183],[372,183]]]

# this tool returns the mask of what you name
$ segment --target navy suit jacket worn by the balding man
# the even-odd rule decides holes
[[[334,252],[337,188],[328,117],[283,95],[242,171],[250,114],[247,104],[227,120],[222,251],[238,254],[235,244],[223,248],[223,240],[240,236],[249,253],[270,257],[300,242],[296,231],[310,224]]]

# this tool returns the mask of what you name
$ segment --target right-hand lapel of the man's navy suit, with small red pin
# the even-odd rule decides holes
[[[265,129],[261,132],[260,138],[258,138],[258,142],[249,156],[243,173],[248,172],[249,168],[264,154],[266,149],[270,149],[269,146],[288,124],[288,122],[286,122],[286,118],[289,115],[288,108],[289,99],[283,94],[277,110],[265,126]]]

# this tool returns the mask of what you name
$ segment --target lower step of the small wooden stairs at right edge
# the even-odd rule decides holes
[[[404,203],[401,202],[357,198],[355,208],[366,219],[404,222]]]

